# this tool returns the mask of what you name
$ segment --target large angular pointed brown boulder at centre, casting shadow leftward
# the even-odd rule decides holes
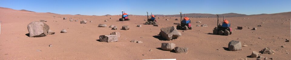
[[[182,36],[181,32],[179,32],[174,26],[162,28],[159,35],[168,41]]]

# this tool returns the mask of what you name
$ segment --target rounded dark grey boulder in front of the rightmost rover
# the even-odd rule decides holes
[[[230,51],[237,51],[242,49],[242,43],[240,41],[230,41],[228,43],[228,49]]]

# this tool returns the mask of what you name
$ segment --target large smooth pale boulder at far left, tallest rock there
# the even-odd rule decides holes
[[[30,22],[27,25],[29,37],[44,37],[48,34],[49,26],[44,22]]]

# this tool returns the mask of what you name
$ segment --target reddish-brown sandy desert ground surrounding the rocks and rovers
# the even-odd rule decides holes
[[[130,14],[130,13],[129,13]],[[179,12],[177,12],[179,14]],[[232,35],[212,35],[212,29],[216,27],[216,18],[190,18],[192,30],[178,30],[182,36],[176,40],[163,41],[158,36],[163,27],[175,26],[179,23],[175,20],[179,17],[165,17],[158,20],[159,26],[144,25],[146,16],[129,16],[129,21],[118,21],[120,15],[114,16],[85,16],[85,15],[60,15],[52,13],[36,13],[29,11],[0,8],[1,36],[0,59],[1,60],[142,60],[142,59],[166,59],[177,60],[240,60],[249,58],[253,51],[270,47],[276,53],[274,55],[261,54],[274,60],[291,59],[291,43],[285,42],[291,39],[290,12],[281,14],[266,14],[244,17],[227,17],[233,28]],[[55,15],[55,17],[53,17]],[[63,17],[68,17],[63,19]],[[69,18],[78,22],[70,22]],[[109,19],[112,17],[112,19]],[[249,18],[249,19],[248,19]],[[47,20],[50,30],[56,32],[46,37],[29,38],[27,25],[40,19]],[[81,20],[87,20],[86,24],[80,24]],[[108,19],[109,21],[104,22]],[[223,18],[219,18],[222,22]],[[92,20],[93,22],[89,22]],[[56,22],[57,21],[57,22]],[[196,23],[201,21],[201,23]],[[263,23],[264,22],[264,23]],[[115,25],[117,30],[109,27],[98,27],[98,24]],[[196,27],[207,24],[208,27]],[[121,30],[122,26],[130,26],[129,30]],[[142,25],[142,27],[136,27]],[[262,25],[258,27],[257,25]],[[243,26],[242,30],[236,29]],[[257,30],[251,30],[256,27]],[[251,28],[251,29],[248,29]],[[60,33],[66,29],[68,33]],[[120,32],[118,42],[99,42],[100,35],[109,35],[111,32]],[[260,39],[261,38],[261,39]],[[131,40],[139,40],[143,43],[132,43]],[[229,41],[241,41],[239,51],[228,51]],[[174,43],[179,47],[188,47],[189,52],[179,54],[160,49],[161,43]],[[49,47],[52,44],[52,47]],[[280,46],[286,46],[285,48]],[[152,51],[149,51],[151,50]]]

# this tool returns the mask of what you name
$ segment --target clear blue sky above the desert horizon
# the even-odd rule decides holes
[[[291,0],[0,0],[0,7],[81,15],[172,15],[183,13],[261,14],[291,11]]]

